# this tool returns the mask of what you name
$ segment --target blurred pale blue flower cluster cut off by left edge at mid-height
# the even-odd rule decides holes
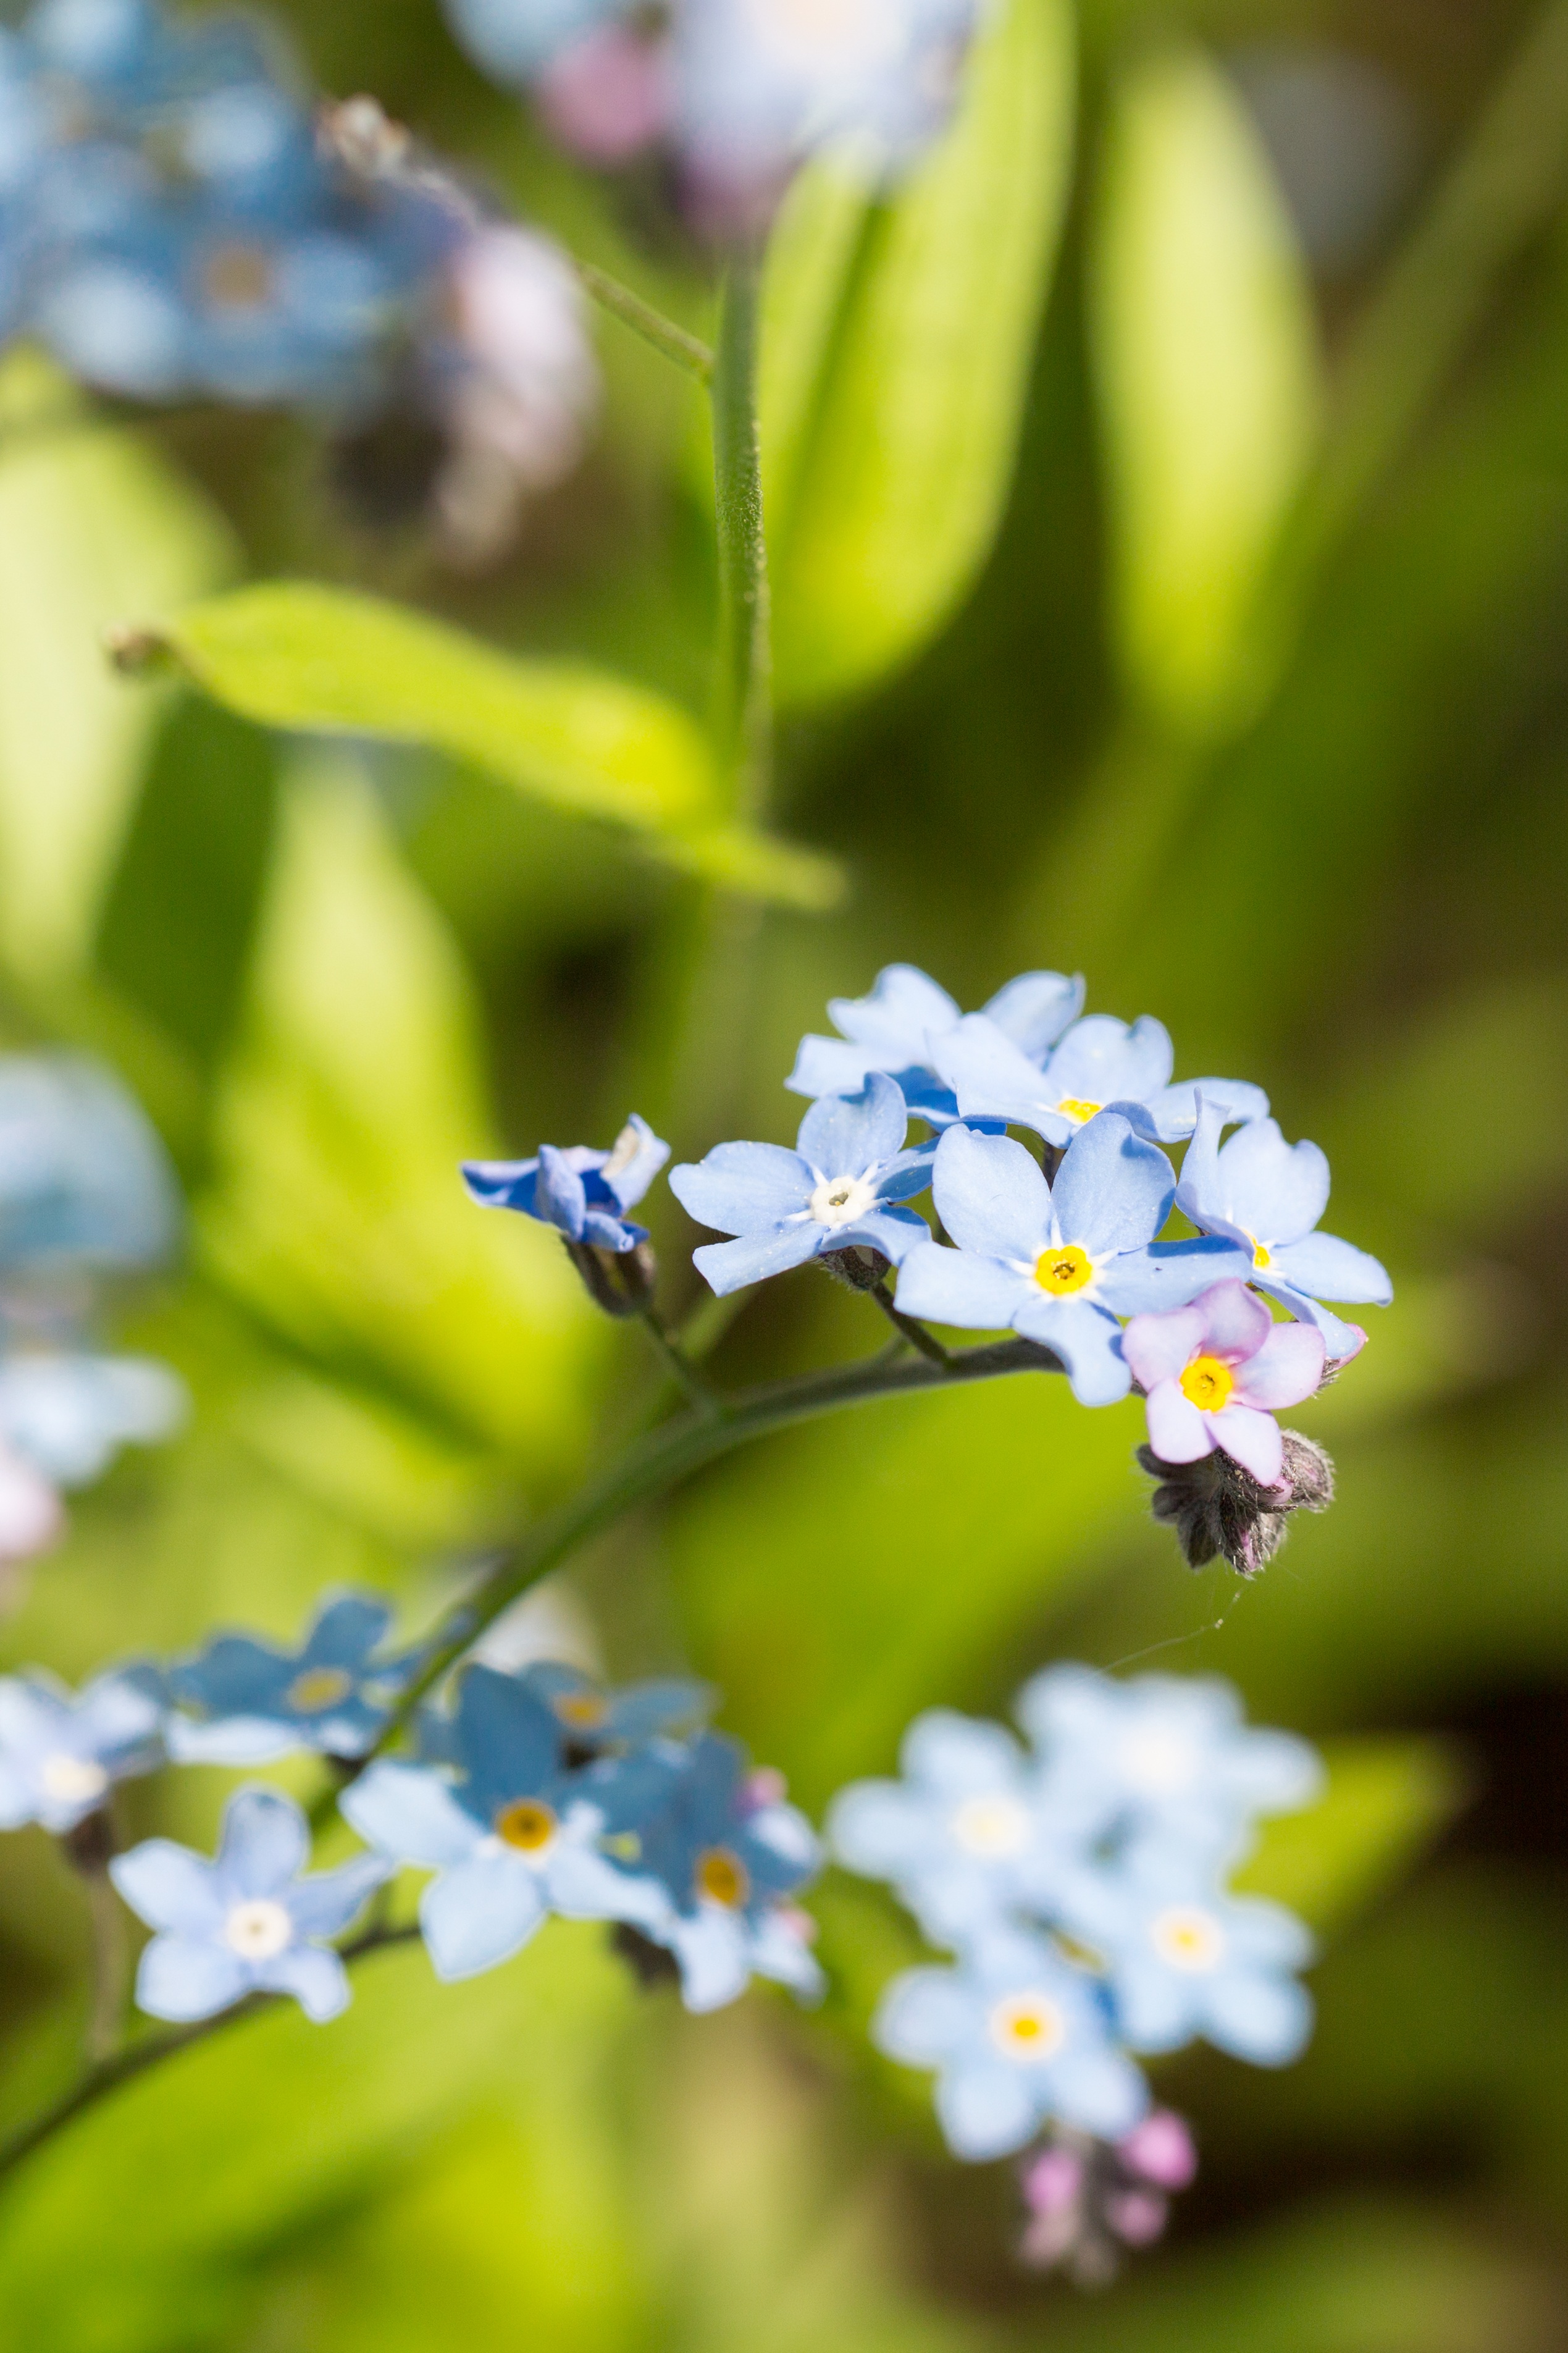
[[[165,1261],[176,1233],[162,1146],[106,1071],[0,1059],[0,1562],[54,1544],[61,1489],[181,1421],[165,1365],[94,1341],[101,1292]]]

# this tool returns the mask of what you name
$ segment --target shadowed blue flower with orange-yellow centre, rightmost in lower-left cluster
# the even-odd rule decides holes
[[[658,1805],[607,1840],[628,1882],[654,1894],[637,1927],[675,1955],[686,2009],[722,2009],[750,1977],[816,2000],[811,1922],[788,1901],[820,1866],[811,1824],[719,1732],[677,1755]]]

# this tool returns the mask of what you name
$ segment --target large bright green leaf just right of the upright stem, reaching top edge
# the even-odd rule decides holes
[[[891,195],[799,174],[769,252],[762,452],[780,701],[910,661],[1001,520],[1072,155],[1063,0],[1009,0]]]

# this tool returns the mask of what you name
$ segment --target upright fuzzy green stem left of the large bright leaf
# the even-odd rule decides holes
[[[712,367],[712,489],[719,536],[719,680],[715,732],[736,779],[736,814],[757,821],[771,784],[769,572],[762,536],[757,348],[762,266],[724,273]]]

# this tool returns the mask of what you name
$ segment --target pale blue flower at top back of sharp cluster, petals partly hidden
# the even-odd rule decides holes
[[[1041,1059],[1084,1009],[1084,979],[1023,972],[985,1007],[985,1016],[1025,1054]],[[872,1071],[896,1078],[910,1111],[931,1127],[959,1115],[957,1096],[936,1073],[931,1040],[961,1021],[945,988],[914,965],[884,965],[865,998],[827,1005],[842,1038],[802,1038],[785,1087],[795,1094],[853,1094]]]

